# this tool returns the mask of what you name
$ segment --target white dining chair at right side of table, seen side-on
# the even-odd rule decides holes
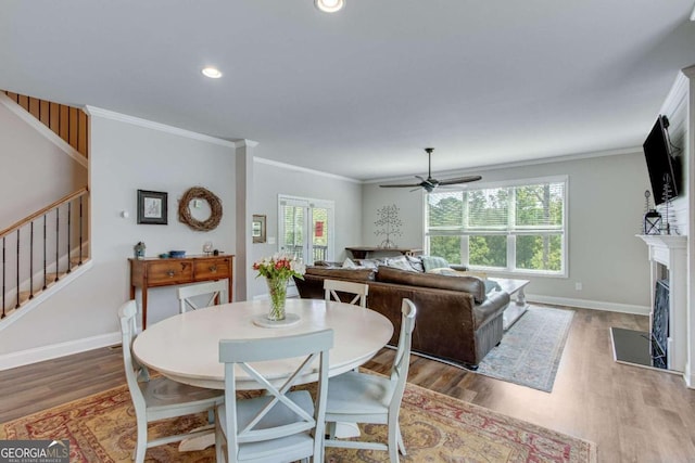
[[[401,334],[390,377],[350,371],[331,377],[328,382],[326,447],[388,450],[391,463],[399,461],[399,450],[405,455],[399,411],[408,375],[416,311],[409,299],[403,299]],[[337,422],[387,424],[388,443],[339,440],[336,438]]]

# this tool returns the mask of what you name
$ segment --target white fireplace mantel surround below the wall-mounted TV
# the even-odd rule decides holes
[[[672,234],[637,235],[649,247],[652,274],[652,313],[654,314],[655,286],[658,280],[668,278],[669,284],[669,339],[668,369],[685,371],[687,362],[687,236]],[[668,272],[664,272],[664,266]]]

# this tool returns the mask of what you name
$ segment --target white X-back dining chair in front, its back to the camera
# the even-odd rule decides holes
[[[333,331],[256,339],[223,339],[225,403],[216,408],[217,461],[229,463],[323,462],[328,351]],[[263,376],[264,361],[303,359],[281,380]],[[261,363],[251,363],[261,362]],[[318,364],[317,364],[318,363]],[[252,399],[236,396],[236,373],[243,370],[264,390]],[[306,374],[317,373],[316,399],[307,390],[290,390]]]

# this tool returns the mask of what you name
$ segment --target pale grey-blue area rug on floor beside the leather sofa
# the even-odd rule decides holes
[[[573,316],[572,310],[530,306],[477,373],[552,391]]]

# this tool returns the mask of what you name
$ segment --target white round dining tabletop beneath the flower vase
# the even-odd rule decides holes
[[[386,346],[393,334],[393,324],[381,313],[343,303],[288,299],[286,311],[299,316],[298,323],[282,327],[256,325],[253,319],[268,311],[269,300],[252,300],[179,313],[148,326],[136,337],[132,351],[142,364],[173,381],[224,389],[220,339],[257,339],[331,329],[333,348],[329,351],[328,375],[334,376],[365,363]],[[280,382],[296,369],[300,361],[294,358],[253,365],[269,380]],[[316,371],[313,371],[299,384],[314,382],[316,377]],[[237,388],[257,389],[258,385],[238,369]]]

